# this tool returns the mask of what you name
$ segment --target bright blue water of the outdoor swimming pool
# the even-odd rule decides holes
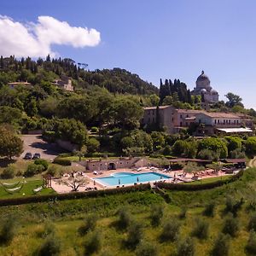
[[[133,183],[148,183],[153,181],[164,180],[171,178],[166,174],[157,172],[131,173],[131,172],[116,172],[107,177],[96,177],[96,182],[102,183],[105,186],[119,186],[123,184]]]

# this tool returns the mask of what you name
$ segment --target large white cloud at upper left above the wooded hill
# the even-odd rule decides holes
[[[100,41],[96,29],[70,26],[53,17],[39,16],[37,23],[21,23],[0,15],[0,55],[3,56],[53,56],[52,44],[83,48],[96,46]]]

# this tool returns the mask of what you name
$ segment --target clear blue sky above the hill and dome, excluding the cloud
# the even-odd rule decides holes
[[[160,78],[178,78],[193,89],[203,69],[221,99],[232,91],[256,108],[253,0],[3,0],[0,15],[23,24],[50,16],[96,29],[96,46],[51,45],[90,70],[121,67],[157,86]]]

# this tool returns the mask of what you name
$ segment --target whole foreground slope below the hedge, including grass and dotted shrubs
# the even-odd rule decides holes
[[[147,189],[0,207],[3,224],[18,220],[5,230],[14,235],[0,253],[255,255],[255,178],[248,169],[215,189],[167,191],[171,201]]]

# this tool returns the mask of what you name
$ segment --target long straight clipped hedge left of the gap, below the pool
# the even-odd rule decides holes
[[[20,198],[9,198],[0,200],[0,207],[23,205],[28,203],[38,203],[45,201],[62,201],[62,200],[73,200],[80,198],[90,198],[105,195],[117,195],[131,193],[135,191],[146,191],[150,189],[150,184],[138,184],[135,186],[127,186],[119,189],[102,189],[102,190],[91,190],[87,192],[70,192],[55,195],[32,195]]]

